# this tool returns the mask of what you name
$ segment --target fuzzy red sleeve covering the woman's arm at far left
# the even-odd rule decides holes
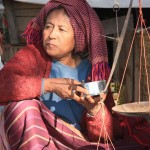
[[[28,46],[0,70],[0,103],[38,97],[46,63],[34,46]]]

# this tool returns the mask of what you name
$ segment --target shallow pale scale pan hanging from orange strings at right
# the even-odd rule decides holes
[[[150,117],[150,102],[142,101],[142,102],[134,102],[127,103],[122,105],[116,105],[112,108],[112,110],[118,114],[124,116],[139,116],[139,117]]]

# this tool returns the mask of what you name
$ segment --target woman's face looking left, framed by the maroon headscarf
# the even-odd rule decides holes
[[[74,31],[64,9],[56,9],[48,15],[43,46],[46,53],[56,60],[71,57],[75,46]]]

